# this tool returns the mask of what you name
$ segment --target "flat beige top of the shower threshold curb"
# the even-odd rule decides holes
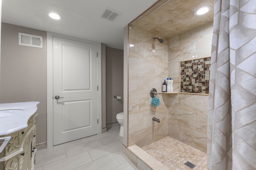
[[[156,160],[153,156],[148,154],[146,151],[138,147],[137,145],[132,145],[127,147],[138,159],[144,162],[152,170],[169,170],[168,167],[164,166],[161,162]]]

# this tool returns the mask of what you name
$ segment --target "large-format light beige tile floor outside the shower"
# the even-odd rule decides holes
[[[122,153],[119,128],[38,150],[35,170],[138,170]]]

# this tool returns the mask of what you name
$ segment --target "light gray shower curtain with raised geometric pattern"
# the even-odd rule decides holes
[[[256,170],[256,0],[215,0],[209,170]]]

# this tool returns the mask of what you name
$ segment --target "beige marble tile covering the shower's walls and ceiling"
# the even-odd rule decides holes
[[[161,35],[168,33],[177,35],[192,20],[200,21],[190,15],[192,6],[209,3],[212,3],[212,0],[182,0],[168,3],[162,7],[164,10],[155,12],[158,17],[148,17],[130,30],[129,41],[134,47],[129,49],[128,145],[136,144],[141,147],[170,135],[200,150],[206,148],[204,139],[208,96],[158,94],[161,105],[154,107],[150,104],[152,98],[149,91],[156,88],[161,92],[163,80],[171,77],[174,80],[174,91],[179,92],[180,61],[190,60],[196,55],[210,56],[212,23],[164,39],[162,44],[156,40],[156,52],[152,52],[152,37],[165,38]],[[168,13],[172,13],[173,18],[166,18]],[[175,15],[179,14],[179,19],[175,18]],[[164,34],[155,31],[156,27]],[[160,117],[160,123],[153,122],[153,116]]]

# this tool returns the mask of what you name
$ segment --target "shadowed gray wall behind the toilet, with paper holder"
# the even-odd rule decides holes
[[[114,96],[121,96],[117,100]],[[124,50],[106,47],[106,124],[124,110]]]

